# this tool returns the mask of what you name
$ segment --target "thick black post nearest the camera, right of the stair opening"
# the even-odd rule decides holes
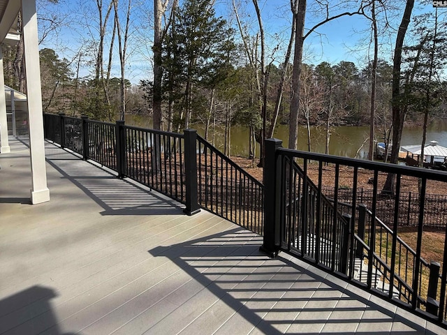
[[[281,221],[281,159],[276,151],[282,141],[269,138],[264,143],[264,237],[260,250],[274,258],[279,252]]]

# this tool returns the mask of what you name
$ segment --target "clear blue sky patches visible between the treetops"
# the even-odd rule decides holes
[[[231,3],[233,0],[217,0],[217,14],[222,15],[228,21],[235,24]],[[251,34],[256,34],[257,20],[254,13],[254,6],[251,0],[237,0],[242,3],[240,17],[249,27]],[[103,2],[108,2],[103,0]],[[122,5],[126,5],[127,0],[120,0]],[[41,15],[57,15],[63,17],[65,24],[54,34],[50,34],[41,47],[51,47],[59,57],[66,57],[71,60],[75,54],[82,51],[84,56],[82,61],[87,61],[89,45],[97,40],[97,27],[95,24],[98,16],[96,0],[59,0],[58,5],[52,5],[45,0],[38,1]],[[140,79],[152,77],[152,30],[150,20],[152,19],[152,0],[132,0],[133,10],[131,17],[131,38],[129,40],[129,58],[126,66],[126,77],[133,84],[138,84]],[[268,52],[268,59],[273,57],[276,63],[284,61],[284,52],[287,47],[288,37],[291,27],[290,0],[259,0],[262,11],[265,34],[268,37],[270,50],[279,45],[279,50],[275,54]],[[312,6],[314,1],[307,1],[308,6]],[[337,2],[332,1],[332,5]],[[341,2],[340,2],[341,3]],[[422,5],[421,1],[416,1],[416,13],[421,11],[434,10],[431,1]],[[404,1],[396,1],[395,6],[400,6],[402,10],[395,11],[396,19],[393,25],[397,27],[404,8]],[[343,10],[345,11],[345,10]],[[447,11],[447,10],[446,10]],[[336,10],[333,13],[341,13]],[[125,13],[121,14],[122,25],[124,26]],[[309,7],[306,17],[306,28],[313,27],[316,22],[322,19],[321,15],[313,13]],[[111,27],[109,27],[111,30]],[[305,40],[304,61],[309,64],[318,64],[321,61],[328,61],[330,64],[337,64],[339,61],[353,61],[358,67],[362,67],[367,61],[367,46],[369,41],[368,33],[370,24],[365,17],[360,15],[352,17],[342,17],[335,21],[328,22],[319,27],[314,34]],[[110,31],[109,30],[109,31]],[[239,34],[237,33],[237,37]],[[380,57],[391,61],[391,45],[394,36],[385,38],[381,47]],[[108,53],[108,43],[106,44]],[[117,58],[117,41],[115,41],[115,56],[113,58],[112,75],[119,77],[119,60]],[[91,48],[90,48],[91,50]],[[75,64],[76,62],[73,62]],[[91,73],[91,64],[83,64],[81,75]]]

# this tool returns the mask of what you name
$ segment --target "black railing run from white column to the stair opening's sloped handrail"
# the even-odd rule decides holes
[[[183,134],[44,115],[45,138],[186,205],[263,232],[263,185],[196,131]],[[64,131],[61,131],[64,130]]]

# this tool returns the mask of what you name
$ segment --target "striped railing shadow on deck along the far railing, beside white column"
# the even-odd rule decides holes
[[[49,152],[53,144],[47,144],[47,163],[62,178],[71,181],[89,198],[103,207],[101,215],[164,215],[178,214],[181,204],[170,198],[151,192],[93,163],[86,163],[73,154],[54,146],[59,152]]]

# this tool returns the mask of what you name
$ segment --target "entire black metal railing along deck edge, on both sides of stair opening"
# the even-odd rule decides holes
[[[427,311],[444,325],[445,239],[440,262],[429,265],[421,256],[426,190],[434,187],[430,183],[446,183],[445,172],[293,151],[281,148],[281,141],[266,140],[263,185],[193,130],[168,133],[63,114],[45,114],[44,126],[48,140],[182,202],[187,214],[202,207],[263,234],[261,249],[269,255],[286,251],[415,313],[427,317],[420,312]],[[318,164],[314,179],[311,161]],[[350,173],[343,184],[342,169]],[[369,198],[359,196],[360,170],[371,175]],[[393,193],[381,191],[387,174],[395,176]],[[417,213],[412,246],[399,235],[409,215],[400,202],[402,177],[420,186],[411,202]],[[378,218],[382,200],[393,207],[390,222]],[[360,269],[358,260],[364,263]]]

